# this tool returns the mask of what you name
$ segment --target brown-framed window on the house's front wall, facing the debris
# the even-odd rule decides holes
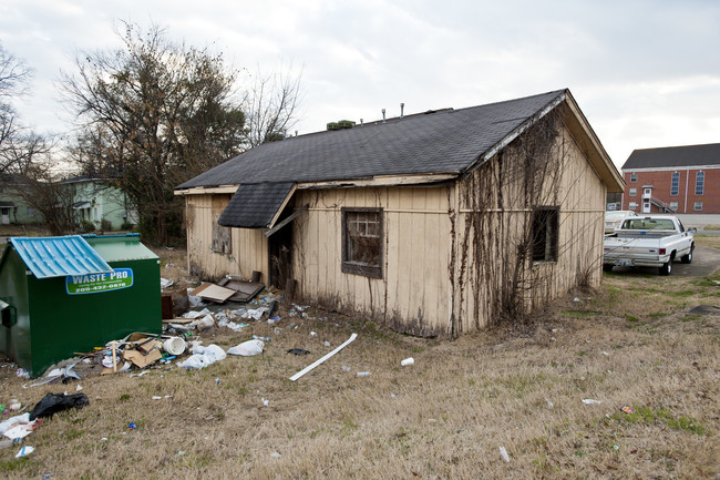
[[[382,278],[382,208],[342,208],[342,272]]]

